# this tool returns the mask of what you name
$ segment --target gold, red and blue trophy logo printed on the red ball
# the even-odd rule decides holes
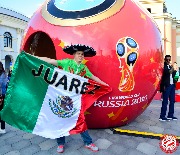
[[[131,37],[123,37],[118,40],[116,45],[116,54],[120,63],[121,80],[119,91],[127,92],[134,89],[135,81],[133,68],[138,59],[139,46]]]

